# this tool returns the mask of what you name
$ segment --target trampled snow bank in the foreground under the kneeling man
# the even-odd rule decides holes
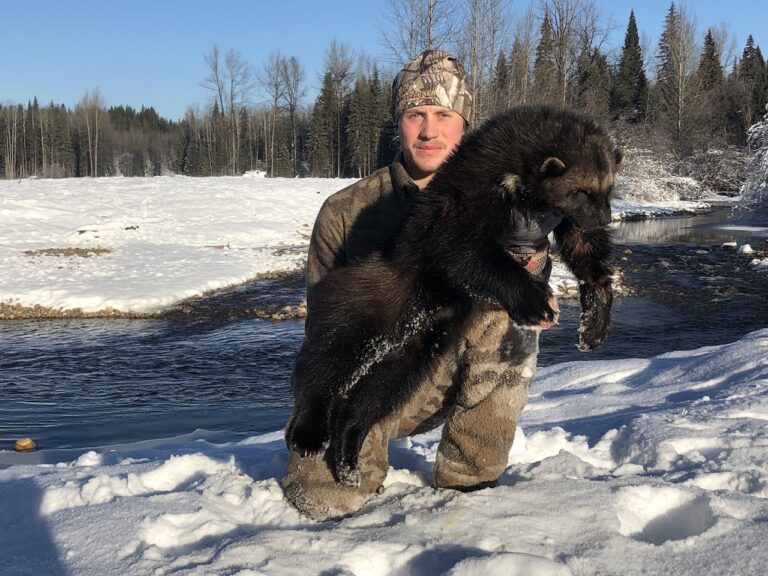
[[[0,573],[760,574],[766,350],[761,330],[542,369],[500,486],[431,488],[436,430],[392,443],[383,493],[341,522],[309,521],[283,500],[281,431],[58,464],[55,453],[0,454],[19,464],[0,470]]]

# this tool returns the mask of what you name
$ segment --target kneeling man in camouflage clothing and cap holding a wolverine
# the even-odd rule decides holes
[[[423,189],[461,141],[471,110],[464,69],[447,52],[428,50],[397,75],[392,113],[400,153],[388,168],[328,198],[317,216],[307,258],[308,334],[313,288],[333,269],[391,246],[412,199],[429,193]],[[531,237],[529,246],[512,249],[529,263],[531,273],[548,276],[546,240],[535,233]],[[283,487],[299,511],[316,520],[357,511],[387,475],[389,439],[425,432],[441,422],[435,486],[472,490],[495,483],[506,468],[527,399],[538,333],[512,324],[505,311],[489,304],[477,305],[457,336],[457,344],[441,356],[403,409],[371,429],[360,452],[359,486],[338,483],[327,454],[290,452]],[[297,402],[306,369],[300,351],[292,375]]]

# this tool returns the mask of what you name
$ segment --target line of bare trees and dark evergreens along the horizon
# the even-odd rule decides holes
[[[521,13],[508,0],[389,0],[385,9],[386,58],[333,41],[311,103],[296,57],[275,52],[254,69],[214,46],[202,82],[210,102],[178,121],[152,107],[108,107],[97,90],[73,109],[0,105],[0,176],[362,177],[394,155],[394,74],[429,48],[464,63],[475,124],[516,104],[575,107],[620,139],[673,154],[681,170],[699,152],[743,148],[768,102],[768,65],[752,36],[739,54],[727,29],[700,35],[674,2],[655,50],[634,12],[623,46],[609,46],[615,26],[592,0],[541,0]]]

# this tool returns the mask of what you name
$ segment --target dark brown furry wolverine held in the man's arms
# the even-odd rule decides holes
[[[561,218],[560,254],[581,285],[579,347],[599,345],[610,326],[607,225],[621,160],[597,124],[565,109],[514,108],[467,134],[417,195],[392,249],[314,287],[289,446],[315,454],[330,441],[337,479],[355,485],[371,426],[410,398],[473,304],[495,303],[521,326],[556,320],[546,281],[507,249],[513,208]]]

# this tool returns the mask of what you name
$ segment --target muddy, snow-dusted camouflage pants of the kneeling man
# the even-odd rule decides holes
[[[434,485],[472,489],[493,484],[506,468],[537,353],[537,330],[516,326],[506,312],[478,309],[411,400],[371,429],[360,452],[359,486],[336,482],[327,454],[302,457],[291,451],[283,479],[286,498],[315,520],[352,514],[382,485],[389,440],[441,422]]]

